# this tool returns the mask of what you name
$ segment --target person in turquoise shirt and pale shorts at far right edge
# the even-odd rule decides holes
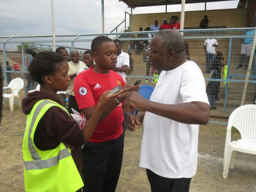
[[[249,25],[249,27],[254,27],[255,25],[253,23],[251,23]],[[255,29],[250,29],[246,32],[245,35],[254,35],[255,33]],[[248,62],[249,62],[249,57],[250,57],[250,52],[252,49],[252,45],[253,45],[253,38],[244,38],[244,43],[241,45],[241,55],[240,55],[240,63],[239,65],[236,67],[237,69],[241,68],[244,61],[245,61],[245,65],[244,65],[244,69],[247,69],[248,67]]]

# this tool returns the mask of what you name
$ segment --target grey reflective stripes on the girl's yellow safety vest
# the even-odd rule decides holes
[[[42,110],[42,108],[44,108],[45,105],[50,104],[50,103],[55,104],[54,102],[44,100],[37,106],[37,108],[35,109],[35,112],[33,114],[32,121],[31,121],[31,124],[29,127],[29,136],[28,136],[28,148],[29,148],[31,157],[33,158],[33,161],[24,161],[24,166],[25,166],[26,170],[49,168],[49,167],[57,165],[59,160],[64,159],[65,157],[68,157],[71,155],[70,152],[65,147],[64,149],[60,150],[60,152],[57,156],[49,158],[47,160],[41,160],[40,155],[38,154],[38,152],[36,151],[36,149],[33,146],[33,141],[31,140],[31,133],[32,133],[32,130],[33,130],[33,127],[35,124],[35,120],[36,120],[38,114],[40,113],[40,111]],[[62,109],[62,110],[64,110],[64,109]]]

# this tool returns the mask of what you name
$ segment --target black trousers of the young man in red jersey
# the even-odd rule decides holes
[[[103,143],[87,142],[82,150],[84,192],[115,192],[124,148],[124,133]]]

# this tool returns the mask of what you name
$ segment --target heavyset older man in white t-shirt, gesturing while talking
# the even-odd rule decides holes
[[[209,121],[209,102],[204,76],[193,61],[186,59],[179,32],[157,32],[148,53],[154,69],[163,70],[150,101],[136,92],[123,93],[129,115],[128,129],[143,122],[140,167],[146,168],[152,192],[188,192],[197,169],[199,124]],[[144,120],[144,121],[143,121]]]

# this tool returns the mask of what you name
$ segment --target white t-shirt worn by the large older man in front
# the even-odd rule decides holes
[[[162,71],[151,101],[163,104],[205,102],[204,76],[193,61]],[[197,169],[199,125],[189,125],[146,112],[140,167],[167,178],[190,178]]]

